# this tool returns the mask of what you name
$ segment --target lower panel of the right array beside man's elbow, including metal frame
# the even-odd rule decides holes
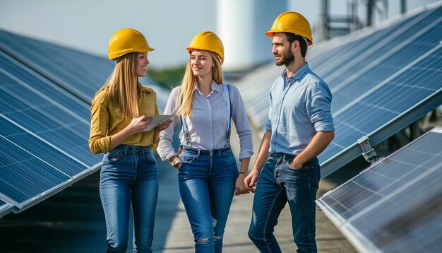
[[[335,140],[319,155],[324,161],[321,174],[326,176],[345,164],[343,160],[359,155],[358,139],[369,136],[376,145],[441,105],[441,68],[439,44],[333,112]],[[347,154],[333,159],[342,152]]]

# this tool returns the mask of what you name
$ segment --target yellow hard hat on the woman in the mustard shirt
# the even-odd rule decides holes
[[[131,28],[124,28],[114,33],[109,40],[109,46],[107,56],[109,59],[115,59],[121,57],[124,54],[132,52],[149,52],[153,51],[152,47],[149,47],[145,37],[138,32],[138,30]]]

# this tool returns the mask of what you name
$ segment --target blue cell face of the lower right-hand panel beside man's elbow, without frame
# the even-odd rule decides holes
[[[431,66],[431,67],[429,67]],[[442,88],[442,48],[418,61],[347,110],[334,114],[335,139],[319,156],[325,161]],[[334,100],[336,100],[334,98]],[[352,101],[347,101],[350,103]],[[369,119],[369,124],[367,122]],[[405,127],[405,126],[404,126]]]

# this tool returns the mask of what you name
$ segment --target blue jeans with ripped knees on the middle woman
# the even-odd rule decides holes
[[[178,171],[179,193],[195,240],[195,252],[222,252],[238,177],[230,148],[206,151],[183,147]]]

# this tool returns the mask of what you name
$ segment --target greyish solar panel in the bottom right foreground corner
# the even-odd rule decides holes
[[[441,182],[442,127],[436,127],[316,203],[361,252],[438,252]]]

